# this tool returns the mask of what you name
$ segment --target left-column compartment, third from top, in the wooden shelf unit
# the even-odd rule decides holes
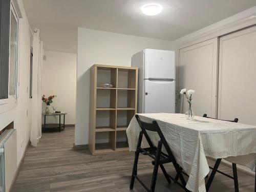
[[[116,110],[96,111],[96,132],[98,129],[116,129]]]

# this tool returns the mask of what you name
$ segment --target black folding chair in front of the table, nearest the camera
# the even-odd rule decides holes
[[[140,120],[138,115],[135,115],[140,127],[141,127],[141,132],[139,134],[139,140],[138,140],[138,144],[137,144],[137,150],[135,152],[135,159],[134,159],[134,165],[133,165],[133,173],[132,173],[132,179],[131,179],[131,184],[130,184],[130,189],[133,189],[134,186],[134,181],[135,179],[137,179],[140,184],[146,189],[146,191],[148,192],[154,192],[155,191],[155,187],[156,187],[156,180],[157,180],[157,173],[158,173],[158,168],[160,166],[160,168],[162,169],[162,172],[167,180],[168,183],[170,183],[170,179],[172,179],[175,183],[177,183],[178,185],[180,185],[183,189],[185,189],[185,191],[189,191],[185,188],[186,186],[186,182],[182,176],[181,173],[181,169],[180,169],[180,165],[176,162],[172,151],[169,148],[168,143],[166,142],[162,131],[160,130],[160,127],[158,126],[156,121],[153,121],[152,123],[146,123]],[[152,132],[157,132],[160,140],[158,141],[158,145],[157,147],[155,147],[150,139],[150,137],[148,136],[146,131],[152,131]],[[142,141],[142,137],[143,135],[145,136],[148,145],[150,145],[150,147],[147,148],[142,148],[141,147],[141,141]],[[167,154],[162,152],[162,145],[165,147],[165,150],[167,152]],[[139,154],[142,155],[147,155],[149,157],[151,157],[153,159],[152,164],[154,165],[154,170],[153,170],[153,176],[152,176],[152,181],[151,181],[151,187],[150,189],[147,188],[147,186],[139,179],[139,177],[137,176],[137,167],[138,167],[138,160],[139,160]],[[169,176],[166,173],[166,170],[163,166],[164,163],[169,163],[172,162],[176,172],[181,180],[181,183],[177,182],[173,177]]]

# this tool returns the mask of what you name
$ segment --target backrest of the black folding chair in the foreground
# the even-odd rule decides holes
[[[152,144],[152,141],[150,139],[150,137],[147,135],[147,131],[152,131],[152,132],[157,132],[159,137],[160,137],[160,141],[163,143],[164,147],[165,147],[165,150],[166,152],[168,153],[169,156],[173,156],[173,153],[172,151],[170,151],[170,147],[167,143],[167,141],[165,140],[164,136],[163,136],[163,133],[157,123],[157,121],[152,121],[152,123],[146,123],[146,122],[143,122],[140,120],[140,117],[139,115],[135,115],[139,125],[140,125],[140,128],[141,128],[141,132],[143,133],[143,135],[145,136],[148,144],[153,147],[153,144]]]

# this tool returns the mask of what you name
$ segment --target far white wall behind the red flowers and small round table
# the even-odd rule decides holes
[[[55,51],[44,51],[46,60],[42,66],[42,94],[57,95],[52,106],[67,112],[66,124],[75,124],[76,112],[76,54]],[[45,111],[43,103],[42,110]],[[43,122],[43,121],[42,121]],[[47,122],[58,122],[56,117],[47,117]],[[61,120],[62,122],[62,120]]]

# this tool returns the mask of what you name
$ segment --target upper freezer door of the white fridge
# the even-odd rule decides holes
[[[144,79],[175,79],[175,52],[144,50]]]

